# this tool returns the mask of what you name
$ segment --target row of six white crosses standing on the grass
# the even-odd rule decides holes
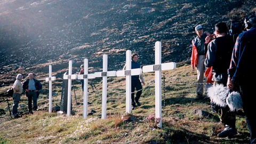
[[[125,76],[126,77],[126,112],[131,112],[131,76],[141,75],[143,73],[155,71],[155,117],[159,118],[158,127],[162,127],[162,82],[161,71],[171,70],[176,68],[175,62],[162,63],[162,45],[161,42],[155,43],[155,65],[143,66],[143,68],[131,69],[131,51],[126,51],[126,70],[108,71],[108,57],[107,54],[103,55],[103,70],[94,74],[88,74],[88,60],[84,59],[84,75],[72,75],[72,61],[69,61],[68,75],[64,75],[64,79],[68,79],[68,108],[67,116],[70,116],[71,107],[71,79],[84,79],[84,105],[83,105],[83,118],[87,117],[87,94],[88,94],[88,79],[95,77],[102,77],[102,111],[101,118],[107,118],[107,77]],[[51,66],[49,67],[49,87],[51,87]],[[46,78],[47,81],[47,78]],[[52,88],[49,88],[49,97]],[[49,98],[49,112],[51,113],[51,98]]]

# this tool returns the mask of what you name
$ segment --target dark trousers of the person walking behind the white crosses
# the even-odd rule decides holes
[[[141,85],[141,82],[140,82],[139,78],[138,79],[132,79],[132,105],[133,106],[136,105],[136,103],[134,101],[134,91],[135,91],[135,88],[137,90],[135,101],[139,101],[140,95],[142,93],[142,85]]]

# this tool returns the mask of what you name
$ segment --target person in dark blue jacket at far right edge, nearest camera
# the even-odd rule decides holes
[[[228,69],[227,87],[240,87],[245,120],[251,134],[251,143],[256,143],[255,81],[253,74],[256,55],[256,15],[249,15],[244,21],[245,30],[239,34],[233,49]]]

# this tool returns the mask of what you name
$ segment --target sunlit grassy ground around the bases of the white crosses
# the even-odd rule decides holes
[[[237,117],[236,127],[239,132],[234,138],[220,139],[217,134],[223,126],[217,114],[213,117],[198,117],[191,112],[194,109],[211,111],[209,100],[195,101],[196,70],[186,63],[177,69],[165,73],[165,108],[162,109],[163,127],[156,129],[144,119],[155,115],[154,73],[145,75],[144,86],[140,98],[141,106],[132,110],[136,117],[133,122],[123,122],[121,115],[125,113],[125,78],[108,78],[107,119],[101,119],[101,82],[97,91],[89,93],[89,110],[97,113],[83,119],[83,105],[77,105],[72,92],[74,116],[57,116],[48,113],[47,83],[44,83],[45,94],[38,99],[39,111],[34,115],[26,115],[18,119],[10,119],[8,111],[0,117],[1,143],[248,143],[250,133],[244,117]],[[163,76],[162,76],[163,77]],[[59,105],[61,97],[61,81],[53,82],[55,103]],[[150,84],[150,85],[149,85]],[[81,85],[74,83],[77,102],[83,102]],[[90,88],[90,91],[92,89]],[[164,94],[164,91],[162,91]],[[162,95],[163,95],[162,94]],[[162,101],[164,98],[162,96]],[[12,102],[10,102],[12,104]],[[22,95],[19,108],[27,109],[27,99]],[[0,103],[5,108],[6,102]]]

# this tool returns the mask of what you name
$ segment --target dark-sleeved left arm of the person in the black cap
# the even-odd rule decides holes
[[[204,61],[205,67],[212,67],[216,59],[216,45],[212,42],[208,45],[208,51],[206,54],[206,59]]]

